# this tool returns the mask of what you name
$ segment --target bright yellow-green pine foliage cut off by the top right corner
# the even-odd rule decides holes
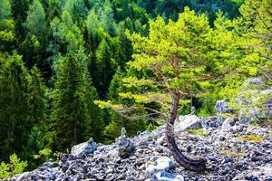
[[[271,8],[272,3],[269,0],[246,0],[239,9],[244,21],[235,26],[241,36],[238,45],[247,54],[245,67],[248,63],[255,63],[257,66],[247,70],[256,71],[269,81],[272,80]]]

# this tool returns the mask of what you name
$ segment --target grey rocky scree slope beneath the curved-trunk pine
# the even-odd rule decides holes
[[[184,127],[203,128],[189,134]],[[180,149],[204,157],[208,169],[194,173],[178,166],[165,142],[165,126],[137,137],[118,138],[112,145],[89,140],[74,146],[58,162],[6,180],[252,180],[272,181],[272,131],[213,117],[180,117],[176,127]]]

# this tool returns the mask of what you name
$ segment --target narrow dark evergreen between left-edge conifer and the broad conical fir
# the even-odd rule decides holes
[[[34,160],[40,150],[44,149],[45,133],[45,86],[40,71],[36,66],[30,71],[28,81],[28,113],[32,125],[29,132],[27,144],[24,146],[24,159],[31,160],[29,168],[34,168],[41,164],[41,160]]]

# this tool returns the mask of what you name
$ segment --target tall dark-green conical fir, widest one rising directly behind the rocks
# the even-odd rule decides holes
[[[91,124],[86,104],[83,61],[75,55],[60,57],[53,90],[53,130],[59,150],[86,140]]]

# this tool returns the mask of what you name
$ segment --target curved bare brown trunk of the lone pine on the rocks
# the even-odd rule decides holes
[[[180,149],[178,148],[175,138],[174,138],[174,123],[178,114],[178,107],[180,102],[180,93],[174,92],[173,94],[173,104],[170,110],[170,116],[167,119],[166,126],[166,138],[167,144],[170,148],[172,156],[176,159],[176,161],[180,164],[180,166],[185,167],[191,171],[200,172],[206,168],[206,160],[204,158],[192,159],[186,157]]]

